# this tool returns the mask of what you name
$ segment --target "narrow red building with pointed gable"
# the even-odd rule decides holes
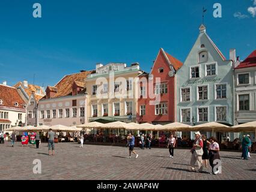
[[[175,122],[175,73],[182,65],[178,59],[160,49],[150,74],[143,73],[139,76],[141,91],[137,109],[139,123],[168,124]],[[157,77],[160,78],[160,83],[159,80],[157,82]],[[146,81],[147,85],[144,83]],[[156,98],[158,98],[158,102],[155,102]]]

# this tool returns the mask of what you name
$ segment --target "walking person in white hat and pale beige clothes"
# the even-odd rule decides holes
[[[202,155],[204,154],[203,151],[203,140],[200,138],[201,133],[195,132],[195,141],[193,144],[193,148],[190,150],[192,155],[191,155],[191,160],[190,160],[190,170],[195,171],[195,162],[197,161],[198,163],[198,172],[203,171],[203,161],[202,161]]]

